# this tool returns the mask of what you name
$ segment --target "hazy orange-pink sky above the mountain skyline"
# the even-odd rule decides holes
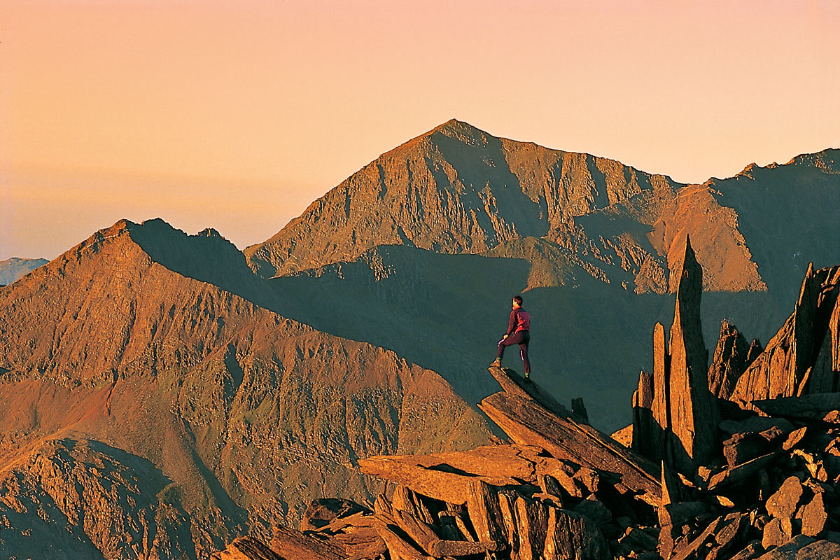
[[[449,118],[677,181],[840,147],[840,3],[0,3],[0,259],[240,248]]]

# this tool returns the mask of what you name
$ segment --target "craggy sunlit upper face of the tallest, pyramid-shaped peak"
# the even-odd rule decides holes
[[[265,277],[353,260],[377,245],[475,254],[516,238],[558,238],[572,217],[678,186],[450,120],[382,154],[244,253]]]

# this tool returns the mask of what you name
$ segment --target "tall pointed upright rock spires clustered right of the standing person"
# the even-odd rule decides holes
[[[654,375],[642,373],[633,396],[633,448],[654,461],[691,473],[715,452],[717,402],[709,390],[708,352],[700,324],[702,271],[685,238],[668,347],[654,327]]]

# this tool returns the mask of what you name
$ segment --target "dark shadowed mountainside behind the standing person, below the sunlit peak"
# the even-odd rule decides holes
[[[503,247],[509,246],[568,256],[553,243],[534,238]],[[621,404],[635,389],[635,370],[650,367],[650,325],[673,310],[667,296],[639,296],[594,278],[575,264],[574,255],[562,261],[568,266],[560,262],[382,246],[352,263],[269,283],[286,296],[278,307],[281,315],[392,348],[441,372],[468,402],[495,390],[491,379],[476,376],[475,365],[495,356],[510,297],[528,289],[524,298],[532,317],[534,379],[567,406],[572,398],[583,397],[598,427],[612,432],[630,420]],[[708,292],[703,298],[704,335],[717,340],[721,319],[729,317],[766,341],[771,326],[789,313],[772,303],[767,292]],[[505,364],[522,367],[516,348],[506,353]]]

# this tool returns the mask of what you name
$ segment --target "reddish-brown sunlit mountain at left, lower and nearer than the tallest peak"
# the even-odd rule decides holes
[[[0,555],[206,558],[323,492],[372,499],[360,457],[489,441],[438,374],[276,297],[217,233],[160,221],[0,289]]]

